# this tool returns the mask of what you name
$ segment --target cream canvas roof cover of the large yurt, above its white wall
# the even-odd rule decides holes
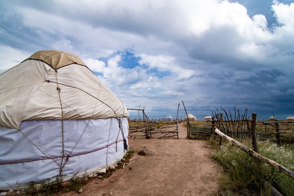
[[[30,57],[0,74],[0,126],[19,129],[24,120],[128,116],[121,100],[86,66],[79,63],[65,66],[67,63],[61,63],[65,62],[64,52],[58,54],[61,60],[50,60],[55,62],[53,66]],[[48,56],[40,58],[48,60]]]

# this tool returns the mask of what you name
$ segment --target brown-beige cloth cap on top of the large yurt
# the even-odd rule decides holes
[[[63,66],[70,65],[72,63],[77,63],[86,66],[86,64],[80,58],[78,58],[78,56],[58,50],[41,50],[34,53],[27,59],[36,59],[44,61],[54,69],[59,69]]]

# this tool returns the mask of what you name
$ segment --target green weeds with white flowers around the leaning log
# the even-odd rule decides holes
[[[251,146],[250,140],[242,140],[242,143]],[[258,143],[259,153],[277,163],[294,171],[293,146],[277,146],[269,141]],[[269,182],[284,196],[294,195],[294,179],[284,173],[278,172],[273,166],[260,162],[223,141],[221,146],[216,146],[212,158],[217,160],[225,172],[221,177],[220,185],[223,191],[229,191],[235,195],[269,195],[268,188],[264,187],[264,181]],[[226,194],[228,195],[228,194]]]

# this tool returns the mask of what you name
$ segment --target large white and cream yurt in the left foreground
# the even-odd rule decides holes
[[[0,74],[0,190],[97,172],[127,136],[127,108],[76,55],[39,51]]]

